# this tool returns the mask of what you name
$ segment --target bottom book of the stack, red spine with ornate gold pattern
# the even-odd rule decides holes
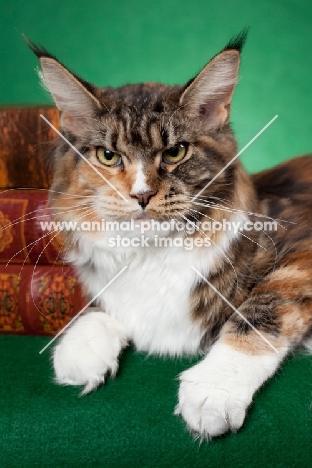
[[[0,265],[0,333],[55,335],[85,304],[68,266]]]

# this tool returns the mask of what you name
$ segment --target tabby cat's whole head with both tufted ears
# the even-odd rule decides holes
[[[56,219],[197,219],[192,199],[236,153],[228,122],[243,40],[184,87],[116,89],[84,82],[31,44],[67,140],[55,152],[50,205]],[[237,167],[209,188],[211,199],[233,198]]]

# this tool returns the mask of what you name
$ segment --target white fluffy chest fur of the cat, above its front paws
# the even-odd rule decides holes
[[[89,258],[93,266],[88,268],[84,263],[77,267],[90,295],[95,296],[127,265],[99,297],[102,309],[124,325],[138,350],[194,354],[204,330],[191,316],[190,295],[200,280],[191,266],[207,274],[231,240],[232,236],[225,235],[223,245],[191,251],[139,247],[118,252],[81,242],[85,260]]]

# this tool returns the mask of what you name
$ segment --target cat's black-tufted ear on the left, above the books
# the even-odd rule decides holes
[[[60,110],[61,128],[79,135],[96,117],[100,103],[93,86],[71,73],[42,47],[27,40],[28,46],[40,60],[39,72],[44,87],[51,93]]]

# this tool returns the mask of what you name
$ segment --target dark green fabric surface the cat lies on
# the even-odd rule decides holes
[[[288,358],[237,434],[200,445],[173,415],[196,359],[127,350],[116,379],[79,398],[53,384],[48,341],[0,336],[2,467],[311,467],[310,356]]]

